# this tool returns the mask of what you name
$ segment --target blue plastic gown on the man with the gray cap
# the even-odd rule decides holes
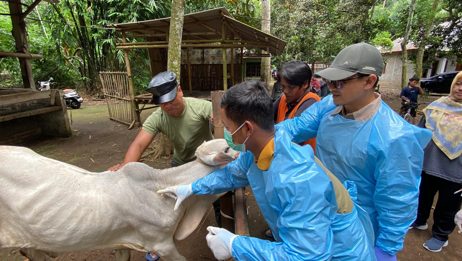
[[[368,121],[331,115],[332,95],[277,124],[298,143],[316,137],[316,156],[339,180],[358,187],[354,203],[371,218],[376,245],[394,255],[417,216],[423,148],[432,132],[405,122],[382,102]]]

